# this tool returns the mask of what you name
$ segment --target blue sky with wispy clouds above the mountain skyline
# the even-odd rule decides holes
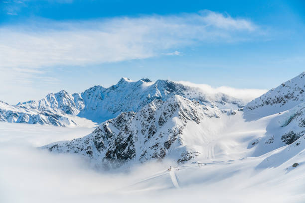
[[[121,77],[268,90],[305,71],[304,33],[303,0],[1,0],[0,100]]]

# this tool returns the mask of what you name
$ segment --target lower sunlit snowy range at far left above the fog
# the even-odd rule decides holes
[[[49,124],[55,126],[92,125],[92,121],[76,116],[82,108],[77,94],[71,96],[65,91],[50,93],[39,101],[19,102],[10,105],[0,101],[0,121],[28,124]]]

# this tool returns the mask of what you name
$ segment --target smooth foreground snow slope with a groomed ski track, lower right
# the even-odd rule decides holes
[[[192,197],[194,202],[198,201],[202,192],[205,192],[204,198],[210,200],[208,202],[216,200],[216,202],[232,201],[234,203],[302,203],[305,199],[304,144],[303,136],[291,145],[260,157],[188,163],[172,167],[169,171],[160,170],[124,189],[128,194],[140,191],[146,195],[166,189],[176,188],[179,189],[178,193],[186,190],[183,197],[188,198],[181,202],[188,201]],[[253,190],[254,188],[256,190]],[[225,197],[220,198],[219,191],[225,192]],[[209,196],[210,198],[207,198]],[[171,194],[170,197],[172,200],[174,196]],[[179,202],[179,200],[176,201]]]

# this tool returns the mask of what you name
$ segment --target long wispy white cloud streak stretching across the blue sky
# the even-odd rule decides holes
[[[2,26],[0,61],[1,68],[39,68],[144,59],[195,42],[250,38],[256,29],[249,20],[212,11]]]

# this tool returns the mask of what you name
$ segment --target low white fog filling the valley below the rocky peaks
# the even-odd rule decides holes
[[[91,131],[92,128],[0,123],[0,202],[287,203],[305,198],[300,192],[304,184],[295,182],[295,176],[277,179],[273,169],[254,172],[241,164],[189,167],[187,173],[178,175],[185,184],[177,189],[166,172],[172,163],[149,163],[129,172],[110,173],[94,169],[80,157],[54,155],[36,148]],[[186,179],[191,179],[192,184]]]

